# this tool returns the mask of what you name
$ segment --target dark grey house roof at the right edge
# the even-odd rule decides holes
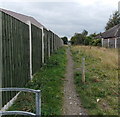
[[[120,24],[114,26],[113,28],[107,30],[101,34],[101,37],[104,39],[120,37]]]

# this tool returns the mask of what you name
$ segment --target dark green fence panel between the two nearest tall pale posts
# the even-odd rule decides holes
[[[42,30],[32,25],[32,69],[35,74],[42,66]]]

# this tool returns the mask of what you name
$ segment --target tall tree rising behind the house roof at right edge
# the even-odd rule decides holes
[[[105,26],[105,30],[108,30],[117,24],[120,24],[120,13],[118,11],[115,11],[113,15],[110,16],[109,21]]]

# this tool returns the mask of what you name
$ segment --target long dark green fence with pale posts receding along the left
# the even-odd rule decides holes
[[[0,14],[0,87],[24,87],[31,79],[30,70],[34,75],[63,42],[52,31],[31,24],[30,50],[30,26],[4,12]],[[13,96],[11,92],[0,94],[2,107]]]

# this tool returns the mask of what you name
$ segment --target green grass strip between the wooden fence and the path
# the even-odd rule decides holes
[[[33,80],[26,86],[41,90],[42,115],[44,116],[62,114],[62,87],[66,62],[66,48],[63,47],[53,53],[47,64],[34,75]],[[35,112],[35,96],[31,93],[21,93],[9,110]]]

